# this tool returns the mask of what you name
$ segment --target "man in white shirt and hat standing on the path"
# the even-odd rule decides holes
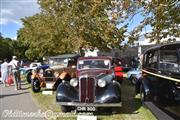
[[[15,90],[21,89],[21,79],[20,79],[20,63],[17,60],[16,56],[13,56],[11,62],[9,63],[11,66],[11,72],[13,75],[13,80],[15,82]]]

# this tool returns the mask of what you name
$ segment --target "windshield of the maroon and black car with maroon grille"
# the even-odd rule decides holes
[[[89,59],[79,60],[78,69],[110,69],[110,60]]]

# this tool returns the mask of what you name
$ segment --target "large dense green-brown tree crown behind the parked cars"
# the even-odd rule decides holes
[[[117,29],[109,19],[111,0],[39,0],[41,13],[22,19],[19,41],[28,47],[28,58],[72,53],[94,46],[108,50],[119,47],[126,27]]]

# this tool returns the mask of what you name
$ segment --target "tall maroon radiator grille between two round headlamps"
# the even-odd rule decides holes
[[[80,95],[79,99],[80,102],[83,103],[92,103],[94,102],[94,88],[95,88],[95,80],[94,78],[90,77],[83,77],[80,78],[79,84]]]

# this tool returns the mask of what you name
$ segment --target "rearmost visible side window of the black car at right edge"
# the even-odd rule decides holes
[[[180,72],[177,50],[160,51],[160,69],[170,72]]]

